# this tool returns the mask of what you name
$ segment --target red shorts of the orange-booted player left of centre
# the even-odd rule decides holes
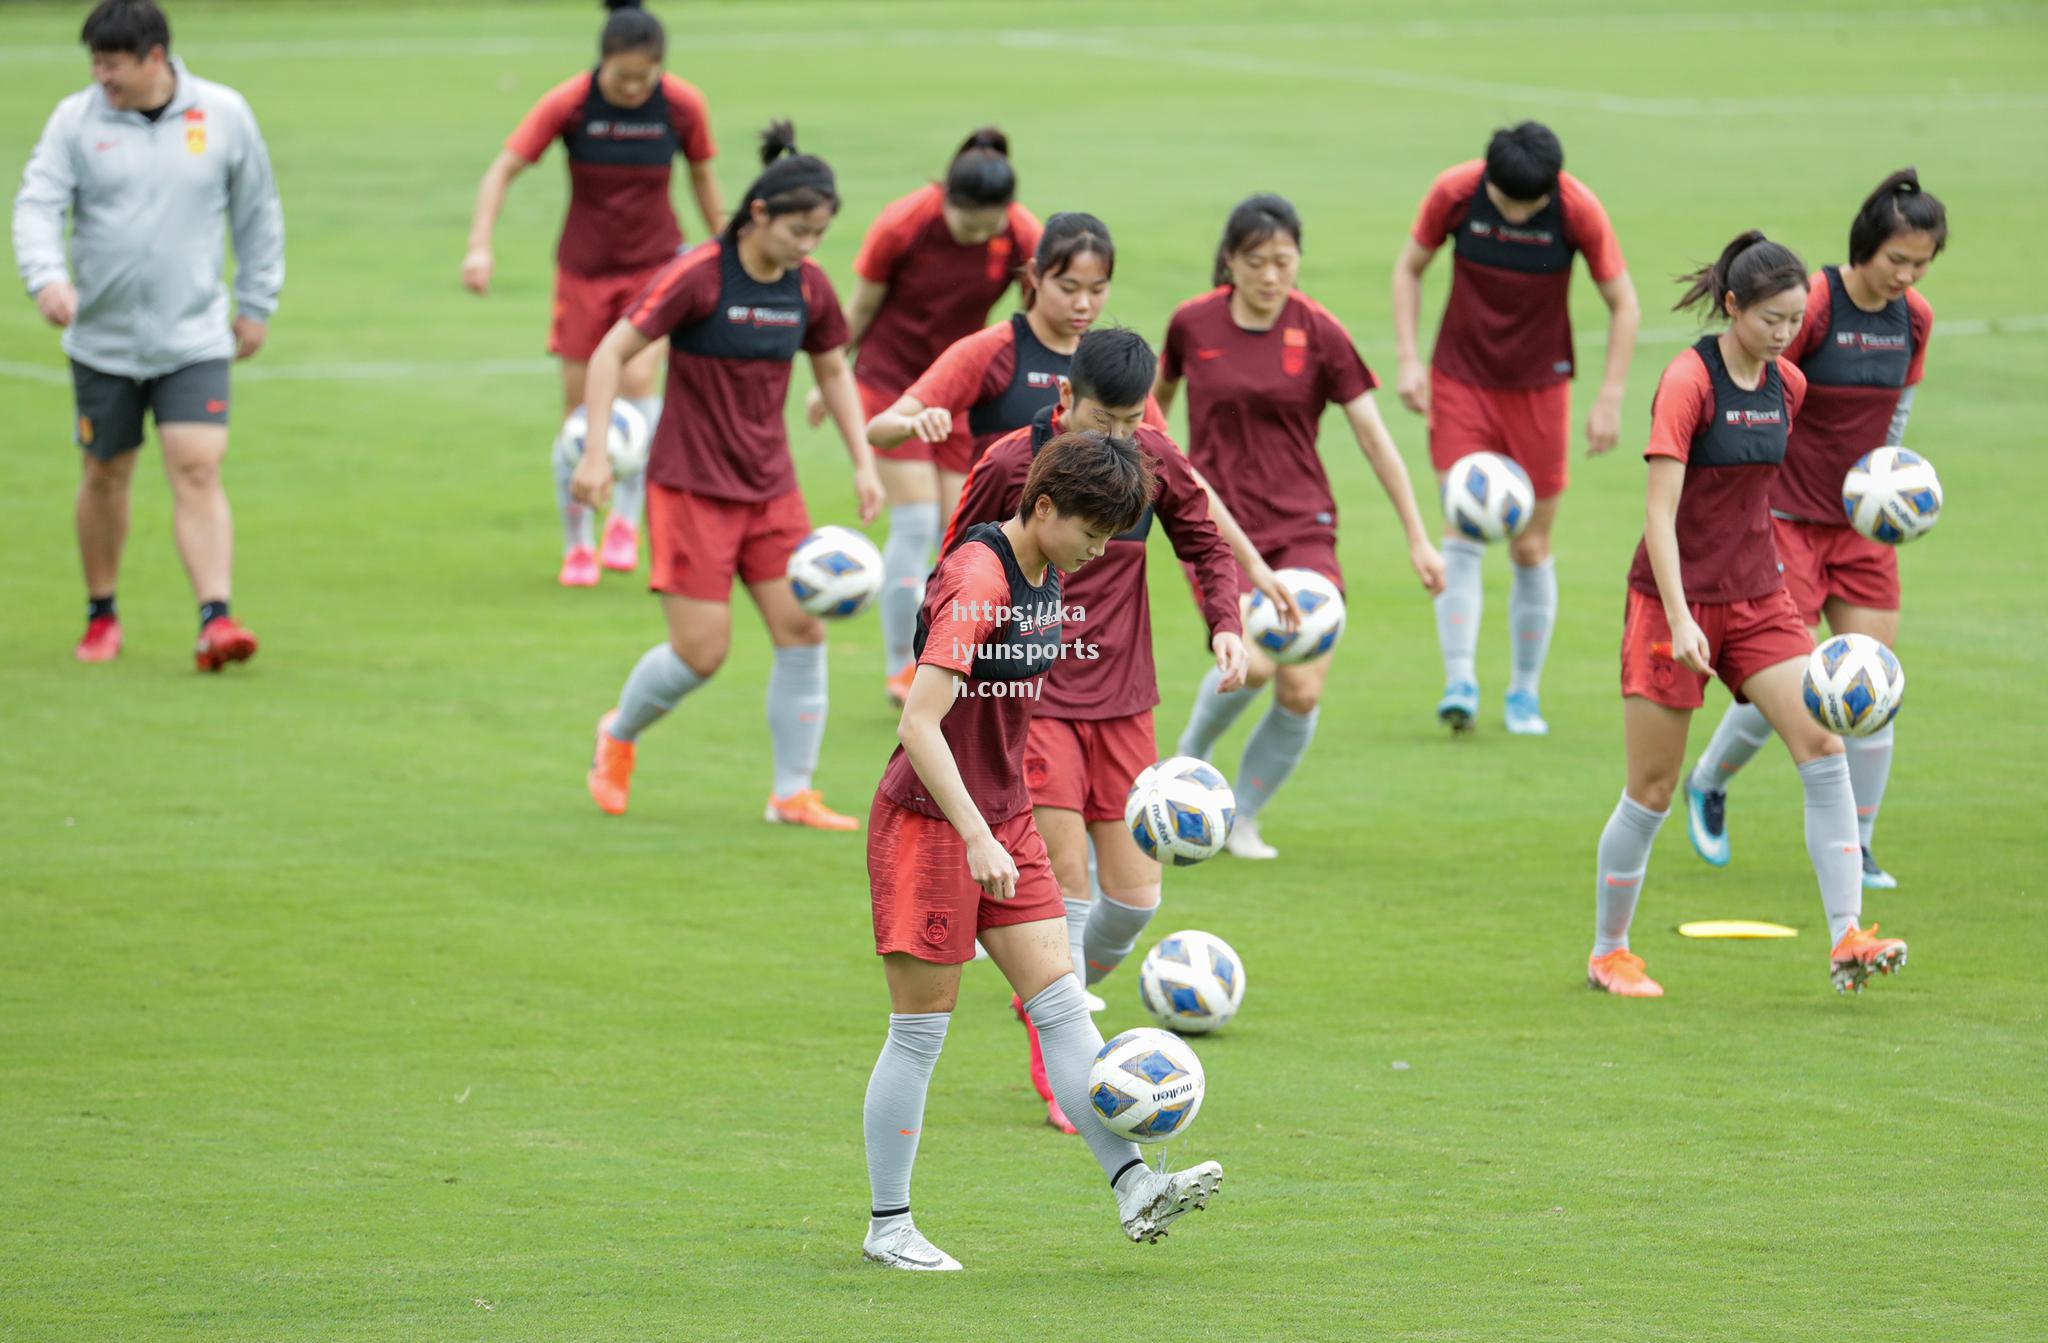
[[[647,483],[647,586],[678,598],[725,602],[743,583],[782,577],[788,555],[811,534],[795,489],[772,500],[713,500]]]

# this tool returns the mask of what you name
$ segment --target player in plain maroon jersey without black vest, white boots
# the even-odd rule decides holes
[[[1317,457],[1323,407],[1335,401],[1401,518],[1409,563],[1432,594],[1444,588],[1444,557],[1430,545],[1415,489],[1372,399],[1376,387],[1350,332],[1294,289],[1300,272],[1300,217],[1282,197],[1247,197],[1231,211],[1217,248],[1217,289],[1174,311],[1159,360],[1159,405],[1188,381],[1188,444],[1210,481],[1274,569],[1315,569],[1343,586],[1337,567],[1337,504]],[[1329,657],[1276,667],[1251,649],[1243,690],[1217,672],[1202,678],[1180,735],[1182,755],[1208,753],[1237,714],[1274,682],[1274,704],[1237,766],[1237,858],[1278,858],[1260,837],[1272,800],[1315,737]]]

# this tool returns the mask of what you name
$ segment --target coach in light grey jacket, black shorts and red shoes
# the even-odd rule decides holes
[[[227,366],[262,348],[285,283],[285,217],[248,102],[170,57],[170,25],[154,0],[102,0],[80,37],[92,88],[57,104],[14,197],[14,260],[37,311],[66,328],[78,399],[88,596],[78,657],[121,651],[115,579],[147,411],[201,604],[197,661],[217,672],[256,651],[227,612],[233,522],[221,459]],[[236,244],[233,323],[223,221]]]

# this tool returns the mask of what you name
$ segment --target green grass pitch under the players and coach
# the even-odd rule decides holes
[[[2048,858],[2028,708],[2048,657],[2048,16],[1794,2],[1452,0],[1427,23],[662,6],[727,199],[770,115],[838,166],[842,283],[872,213],[997,121],[1028,205],[1114,225],[1112,315],[1153,338],[1206,287],[1229,205],[1288,192],[1305,289],[1389,381],[1386,272],[1423,186],[1542,117],[1651,313],[1624,444],[1690,340],[1661,315],[1671,274],[1749,225],[1839,260],[1855,203],[1907,162],[1950,203],[1911,434],[1950,518],[1905,557],[1913,690],[1878,835],[1905,884],[1866,907],[1911,938],[1911,972],[1829,991],[1774,755],[1735,796],[1729,870],[1665,827],[1636,948],[1669,997],[1587,993],[1640,461],[1575,463],[1552,737],[1497,727],[1495,557],[1485,727],[1450,743],[1427,602],[1329,432],[1354,608],[1321,737],[1266,817],[1284,858],[1171,872],[1153,925],[1223,934],[1249,964],[1176,1151],[1229,1183],[1184,1234],[1126,1245],[1081,1146],[1038,1124],[1008,991],[971,968],[915,1185],[971,1269],[940,1282],[858,1257],[887,1011],[862,846],[760,823],[750,616],[645,739],[633,813],[584,796],[590,723],[659,622],[633,581],[553,586],[559,158],[514,188],[494,295],[457,266],[477,174],[588,59],[596,6],[172,6],[193,70],[256,106],[285,197],[285,303],[240,375],[229,471],[236,610],[264,649],[193,674],[152,446],[127,651],[74,665],[70,393],[33,307],[0,305],[0,1337],[2048,1337],[2048,925],[2028,899]],[[8,174],[86,82],[82,8],[0,8]],[[1575,291],[1597,369],[1597,299]],[[1386,401],[1419,473],[1421,426]],[[813,514],[850,520],[836,442],[795,444]],[[1155,581],[1171,739],[1196,618],[1171,565]],[[831,641],[821,784],[850,811],[893,743],[877,637],[864,618]],[[1800,936],[1694,944],[1686,917]],[[1106,1028],[1137,1024],[1135,964],[1108,997]]]

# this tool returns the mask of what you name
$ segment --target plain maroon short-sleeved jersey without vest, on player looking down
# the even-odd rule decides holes
[[[1159,373],[1188,381],[1190,457],[1257,551],[1335,540],[1317,428],[1325,405],[1378,387],[1341,321],[1292,293],[1272,330],[1247,332],[1231,319],[1225,285],[1174,309]]]

